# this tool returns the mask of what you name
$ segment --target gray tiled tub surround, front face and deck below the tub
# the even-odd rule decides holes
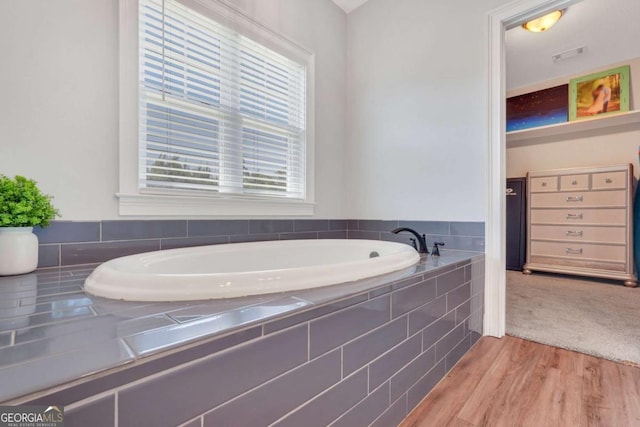
[[[90,268],[2,278],[0,400],[64,405],[68,426],[397,425],[482,331],[484,255],[442,254],[391,282],[191,303],[88,296]]]

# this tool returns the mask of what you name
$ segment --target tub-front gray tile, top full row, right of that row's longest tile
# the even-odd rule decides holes
[[[389,318],[389,297],[382,296],[314,320],[309,326],[311,357],[344,344]]]

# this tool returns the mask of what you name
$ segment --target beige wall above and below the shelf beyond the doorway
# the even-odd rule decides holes
[[[640,104],[640,58],[621,63],[583,70],[578,75],[548,80],[528,87],[518,88],[508,96],[520,95],[545,87],[553,87],[573,77],[598,72],[619,65],[631,67],[631,105],[637,109]],[[634,84],[635,82],[635,84]],[[640,173],[638,145],[640,144],[640,123],[620,128],[605,128],[585,135],[569,135],[534,145],[520,145],[507,149],[507,177],[526,176],[528,171],[561,169],[579,166],[606,166],[631,163],[636,177]]]

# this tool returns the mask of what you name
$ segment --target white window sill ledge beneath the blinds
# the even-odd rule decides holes
[[[256,200],[157,194],[118,193],[122,216],[247,216],[281,217],[313,215],[315,204],[293,200]]]

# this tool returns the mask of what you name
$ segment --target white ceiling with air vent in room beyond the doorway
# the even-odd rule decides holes
[[[543,33],[515,27],[506,33],[507,89],[592,70],[640,57],[640,0],[583,0]],[[585,47],[554,62],[552,56]]]

